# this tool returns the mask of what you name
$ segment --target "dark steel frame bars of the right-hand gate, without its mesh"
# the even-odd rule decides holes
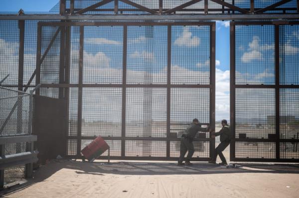
[[[275,26],[275,84],[235,84],[235,26],[236,25],[273,25]],[[280,138],[280,90],[283,88],[299,88],[299,85],[281,85],[280,84],[280,26],[281,25],[299,25],[299,21],[236,21],[231,22],[230,25],[230,119],[231,130],[233,137],[230,145],[230,160],[231,161],[254,161],[254,162],[299,162],[299,159],[282,159],[280,156],[280,143],[281,142],[293,142],[299,143],[299,139],[281,139]],[[235,137],[235,90],[237,88],[272,88],[275,89],[275,111],[276,111],[276,138],[236,138]],[[235,142],[275,142],[276,144],[276,156],[275,159],[266,158],[236,158],[235,157]]]

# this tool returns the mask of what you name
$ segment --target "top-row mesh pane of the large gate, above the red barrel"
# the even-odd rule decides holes
[[[123,27],[84,28],[83,83],[122,83]]]

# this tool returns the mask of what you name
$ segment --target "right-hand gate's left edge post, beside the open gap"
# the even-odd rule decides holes
[[[230,161],[235,160],[235,24],[230,23],[230,124],[233,139],[230,143]]]

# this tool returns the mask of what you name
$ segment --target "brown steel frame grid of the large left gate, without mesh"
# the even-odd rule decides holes
[[[124,27],[124,39],[123,39],[123,81],[120,84],[83,84],[83,40],[84,40],[84,26],[107,26],[107,25],[119,25]],[[127,29],[128,26],[135,25],[163,25],[167,26],[167,83],[166,84],[127,84]],[[172,25],[197,25],[197,26],[210,26],[210,84],[198,85],[198,84],[171,84],[171,27]],[[104,139],[121,140],[121,159],[128,159],[125,155],[125,143],[126,140],[152,140],[152,141],[166,141],[166,156],[163,159],[170,159],[170,141],[179,141],[180,138],[171,138],[170,133],[170,96],[171,88],[209,88],[210,89],[210,123],[204,123],[204,125],[215,124],[215,22],[39,22],[38,26],[57,26],[61,28],[70,28],[71,26],[80,26],[80,53],[79,53],[79,83],[78,84],[41,84],[41,87],[58,87],[58,88],[70,88],[78,87],[78,133],[77,136],[68,136],[67,139],[77,140],[77,155],[76,158],[80,158],[81,140],[82,139],[94,139],[94,137],[86,137],[81,135],[82,129],[82,88],[83,87],[119,87],[122,88],[122,133],[121,137],[104,137]],[[67,58],[66,58],[67,60]],[[163,87],[167,89],[167,119],[166,119],[166,137],[127,137],[126,136],[126,89],[128,87]],[[215,149],[215,139],[213,138],[196,138],[195,141],[208,141],[210,142],[210,151]],[[211,154],[210,154],[211,155]],[[118,158],[118,159],[120,159]],[[138,158],[144,159],[144,158]],[[149,159],[152,159],[150,157]],[[171,158],[173,159],[173,158]],[[198,158],[196,158],[198,160]],[[200,160],[200,159],[199,159]],[[207,158],[208,160],[208,158]],[[205,160],[206,161],[206,160]]]

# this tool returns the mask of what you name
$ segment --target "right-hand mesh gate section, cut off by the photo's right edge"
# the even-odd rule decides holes
[[[232,161],[299,161],[299,22],[231,22]]]

